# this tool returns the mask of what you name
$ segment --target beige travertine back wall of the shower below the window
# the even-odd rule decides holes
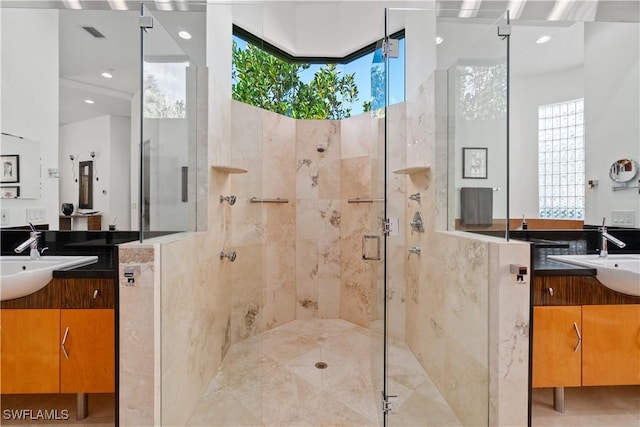
[[[381,120],[293,120],[235,101],[232,116],[241,119],[232,124],[231,162],[248,170],[230,176],[238,197],[227,244],[238,254],[228,270],[232,342],[296,318],[369,326],[372,265],[362,260],[362,235],[379,235],[379,224],[372,204],[347,200],[381,197],[371,189]],[[395,329],[404,336],[404,320]]]

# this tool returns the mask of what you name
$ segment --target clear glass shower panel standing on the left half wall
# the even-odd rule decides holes
[[[140,230],[195,230],[196,66],[162,20],[145,15],[153,27],[143,32]]]

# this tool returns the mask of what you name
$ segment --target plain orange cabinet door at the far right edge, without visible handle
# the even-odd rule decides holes
[[[640,305],[585,305],[582,326],[582,384],[640,384]]]

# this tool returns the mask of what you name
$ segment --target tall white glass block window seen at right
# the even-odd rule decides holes
[[[538,107],[540,218],[584,219],[584,98]]]

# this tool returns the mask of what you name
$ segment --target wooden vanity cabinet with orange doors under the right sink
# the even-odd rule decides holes
[[[640,384],[640,297],[593,276],[536,277],[533,292],[533,387]]]

